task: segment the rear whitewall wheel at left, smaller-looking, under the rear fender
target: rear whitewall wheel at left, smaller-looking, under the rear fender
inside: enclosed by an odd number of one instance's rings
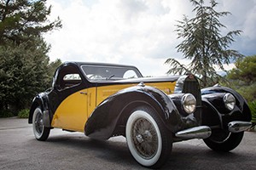
[[[39,107],[34,111],[32,127],[36,139],[41,141],[48,139],[50,128],[44,126],[43,112]]]

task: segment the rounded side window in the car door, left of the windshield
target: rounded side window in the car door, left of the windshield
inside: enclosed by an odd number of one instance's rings
[[[56,87],[58,90],[72,88],[82,82],[78,69],[73,65],[67,65],[61,68],[57,77]]]

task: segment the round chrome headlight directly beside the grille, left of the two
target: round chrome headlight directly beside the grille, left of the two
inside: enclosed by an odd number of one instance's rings
[[[193,113],[196,107],[196,99],[192,94],[184,94],[182,97],[182,105],[184,111],[187,113]]]

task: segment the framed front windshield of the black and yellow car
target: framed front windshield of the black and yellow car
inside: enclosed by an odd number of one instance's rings
[[[121,80],[142,77],[135,67],[112,65],[82,65],[82,69],[90,80]]]

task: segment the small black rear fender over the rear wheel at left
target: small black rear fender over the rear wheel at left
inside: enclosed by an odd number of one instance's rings
[[[35,98],[32,100],[32,106],[29,111],[28,116],[28,123],[32,123],[32,117],[34,114],[34,111],[40,107],[40,109],[43,112],[43,119],[44,119],[44,126],[45,127],[51,127],[50,126],[50,117],[49,117],[49,99],[48,99],[48,93],[40,93],[35,96]]]

